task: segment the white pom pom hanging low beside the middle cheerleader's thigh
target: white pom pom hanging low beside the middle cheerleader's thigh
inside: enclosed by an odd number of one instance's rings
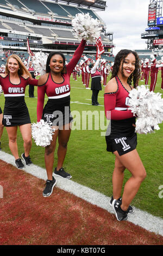
[[[40,120],[40,122],[32,124],[32,138],[37,146],[46,147],[51,144],[54,130],[47,122]]]

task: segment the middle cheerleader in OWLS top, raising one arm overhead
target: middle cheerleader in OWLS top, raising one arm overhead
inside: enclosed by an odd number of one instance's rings
[[[70,111],[70,76],[84,51],[86,41],[82,40],[71,61],[65,66],[65,56],[61,52],[51,52],[47,58],[46,74],[39,79],[37,91],[37,121],[41,118],[55,128],[53,139],[49,146],[45,147],[45,165],[47,171],[46,187],[43,197],[52,194],[56,180],[53,177],[54,151],[58,146],[58,163],[54,174],[69,179],[68,174],[62,167],[67,152],[67,143],[71,134],[71,122],[73,121]],[[48,102],[43,108],[45,93]]]

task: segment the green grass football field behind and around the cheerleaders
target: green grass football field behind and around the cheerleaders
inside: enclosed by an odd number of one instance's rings
[[[99,126],[93,117],[93,121],[89,122],[85,116],[87,111],[94,112],[98,117],[100,114],[104,117],[104,87],[99,92],[98,102],[102,106],[91,105],[91,90],[86,90],[81,82],[81,76],[78,81],[74,81],[71,76],[71,111],[74,117],[73,130],[71,133],[70,141],[68,142],[68,150],[64,167],[72,175],[72,180],[83,184],[105,194],[108,197],[112,195],[112,171],[114,169],[114,155],[106,152],[105,136],[102,133],[106,129],[105,126]],[[91,79],[90,79],[91,83]],[[140,82],[140,85],[144,84]],[[150,78],[148,81],[150,84]],[[159,71],[158,81],[155,87],[155,92],[161,91],[161,73]],[[37,97],[37,88],[35,87],[35,97]],[[1,96],[1,108],[4,106],[4,96]],[[36,105],[37,98],[28,97],[28,86],[26,88],[26,103],[29,109],[29,114],[32,122],[36,122]],[[45,103],[47,102],[47,96]],[[83,104],[80,104],[83,103]],[[85,111],[85,112],[84,112]],[[77,119],[78,118],[78,119]],[[78,122],[76,122],[78,120]],[[89,122],[89,123],[88,123]],[[93,123],[91,129],[90,124]],[[79,125],[80,124],[80,125]],[[98,128],[99,126],[99,128]],[[80,127],[80,129],[79,129]],[[82,129],[83,127],[83,129]],[[154,216],[163,218],[163,191],[159,189],[163,187],[163,123],[159,125],[160,130],[153,134],[137,134],[137,151],[140,154],[142,162],[147,171],[147,177],[141,184],[139,192],[137,193],[132,205],[141,210],[147,211]],[[76,128],[76,129],[74,129]],[[11,153],[8,146],[8,135],[4,128],[2,135],[2,150]],[[18,130],[18,152],[21,156],[23,153],[23,141]],[[34,164],[45,168],[44,162],[45,148],[38,147],[33,141],[30,157]],[[55,166],[57,163],[57,150],[55,151]],[[54,167],[55,167],[54,166]],[[130,173],[125,171],[124,183],[128,180]],[[162,188],[163,190],[163,188]],[[160,193],[160,194],[159,194]],[[160,197],[161,195],[161,197]],[[109,203],[109,202],[108,202]]]

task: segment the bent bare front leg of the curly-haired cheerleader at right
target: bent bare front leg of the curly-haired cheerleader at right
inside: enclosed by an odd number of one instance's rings
[[[146,177],[146,170],[141,162],[141,159],[136,149],[130,151],[129,153],[123,154],[122,156],[120,156],[117,151],[115,151],[114,154],[116,158],[121,162],[121,164],[131,172],[131,177],[126,182],[122,195],[121,209],[123,211],[127,211],[131,201],[134,199],[137,191],[139,190],[142,181]],[[114,179],[115,195],[118,194],[120,191],[119,189],[121,181],[122,180],[117,181],[116,183]]]

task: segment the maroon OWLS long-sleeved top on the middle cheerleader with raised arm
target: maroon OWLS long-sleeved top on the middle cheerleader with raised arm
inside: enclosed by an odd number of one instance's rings
[[[60,84],[57,84],[53,81],[51,73],[48,74],[47,81],[44,85],[39,86],[37,89],[37,121],[39,122],[42,117],[43,104],[45,99],[45,93],[48,96],[48,99],[53,99],[53,104],[70,102],[70,76],[73,72],[74,67],[76,67],[82,53],[84,51],[86,41],[83,39],[79,44],[77,50],[74,52],[74,55],[71,61],[66,65],[66,73],[61,74],[64,81]]]

